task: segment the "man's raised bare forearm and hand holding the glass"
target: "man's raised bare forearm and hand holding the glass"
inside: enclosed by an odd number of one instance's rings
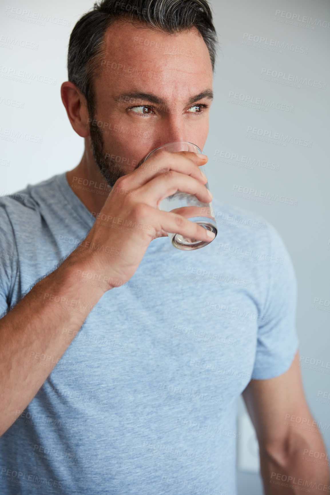
[[[207,160],[203,156],[162,151],[118,179],[82,244],[91,248],[74,249],[0,319],[0,435],[36,395],[92,307],[106,291],[132,277],[152,239],[175,232],[210,241],[200,225],[158,209],[177,190],[211,201],[198,168]],[[103,254],[94,246],[111,249]],[[81,283],[86,279],[77,276],[84,273],[94,273],[102,283]],[[42,355],[49,366],[34,359]]]

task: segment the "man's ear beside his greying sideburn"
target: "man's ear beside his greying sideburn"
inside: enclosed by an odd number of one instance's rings
[[[61,86],[61,98],[73,129],[82,138],[89,136],[90,118],[86,98],[69,81],[66,81]]]

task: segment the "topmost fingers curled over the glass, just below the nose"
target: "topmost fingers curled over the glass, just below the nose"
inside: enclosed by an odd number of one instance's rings
[[[152,178],[164,175],[169,170],[175,170],[206,184],[205,175],[199,170],[199,166],[204,165],[208,158],[193,151],[177,151],[170,153],[163,149],[157,151],[155,156],[148,158],[142,165],[130,172],[125,177],[129,179],[129,187],[137,189]]]

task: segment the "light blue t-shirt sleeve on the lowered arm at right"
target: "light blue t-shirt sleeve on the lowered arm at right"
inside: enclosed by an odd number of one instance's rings
[[[275,228],[268,224],[269,249],[266,298],[259,328],[252,378],[266,380],[287,371],[299,340],[295,327],[297,284],[290,256]],[[266,268],[266,266],[265,266]]]

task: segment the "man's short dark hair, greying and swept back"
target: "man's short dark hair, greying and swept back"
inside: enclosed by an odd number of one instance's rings
[[[207,0],[102,0],[74,26],[68,49],[68,79],[87,100],[91,115],[95,110],[93,74],[103,54],[104,35],[116,19],[142,22],[156,31],[174,34],[193,27],[209,50],[212,69],[216,58],[217,34]]]

